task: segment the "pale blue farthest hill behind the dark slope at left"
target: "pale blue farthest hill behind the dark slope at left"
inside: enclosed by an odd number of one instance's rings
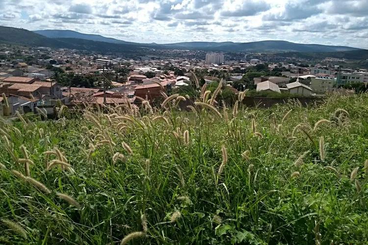
[[[84,34],[72,30],[36,30],[33,31],[37,34],[43,35],[48,38],[78,38],[86,39],[97,42],[113,43],[113,44],[136,44],[132,42],[126,42],[115,38],[108,38],[101,35]]]

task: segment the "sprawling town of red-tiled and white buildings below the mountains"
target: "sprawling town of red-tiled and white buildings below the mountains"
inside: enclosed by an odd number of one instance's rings
[[[163,100],[162,92],[195,96],[200,92],[196,83],[203,86],[220,80],[228,97],[249,90],[249,96],[271,98],[320,98],[333,92],[346,95],[365,91],[368,83],[367,70],[271,63],[247,59],[246,55],[242,60],[226,60],[219,52],[208,52],[203,60],[151,56],[133,60],[70,49],[20,50],[3,45],[0,58],[0,93],[9,103],[4,106],[0,98],[0,115],[4,116],[15,115],[17,110],[37,114],[37,108],[53,108],[57,101],[115,105],[139,104],[143,98],[156,103]]]

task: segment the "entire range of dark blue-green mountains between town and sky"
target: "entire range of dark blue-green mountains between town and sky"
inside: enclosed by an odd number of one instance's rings
[[[42,35],[41,35],[42,34]],[[203,51],[221,52],[262,52],[282,53],[294,52],[309,53],[309,56],[321,57],[350,57],[352,59],[368,59],[368,50],[344,46],[326,46],[316,44],[296,44],[286,41],[260,41],[250,43],[233,42],[184,42],[174,44],[140,44],[126,42],[114,38],[106,38],[101,35],[83,34],[70,30],[39,30],[0,26],[0,43],[17,44],[31,47],[50,47],[89,50],[101,53],[134,53],[135,55],[147,55],[148,49],[191,49]],[[314,55],[316,54],[316,55]]]

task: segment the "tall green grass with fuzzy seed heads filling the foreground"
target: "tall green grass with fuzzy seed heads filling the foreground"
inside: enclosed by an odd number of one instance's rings
[[[367,95],[179,99],[1,122],[0,244],[367,244]]]

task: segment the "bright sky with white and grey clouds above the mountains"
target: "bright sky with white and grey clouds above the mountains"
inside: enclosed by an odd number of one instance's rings
[[[140,43],[346,45],[368,49],[368,0],[0,0],[0,25]]]

